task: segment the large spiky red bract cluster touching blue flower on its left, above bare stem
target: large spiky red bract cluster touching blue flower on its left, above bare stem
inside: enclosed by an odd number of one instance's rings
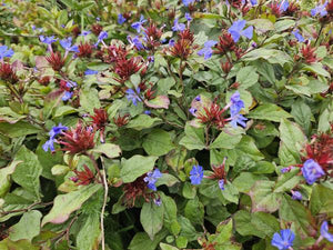
[[[62,151],[69,151],[71,154],[84,153],[94,147],[94,131],[91,127],[82,126],[80,121],[75,128],[62,132],[62,137],[58,140],[64,147]]]

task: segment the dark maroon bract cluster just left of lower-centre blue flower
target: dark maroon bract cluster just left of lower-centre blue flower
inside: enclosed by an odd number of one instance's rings
[[[155,194],[154,192],[150,192],[147,182],[144,182],[144,177],[147,174],[139,177],[137,180],[134,180],[131,183],[125,183],[123,187],[123,202],[128,207],[133,207],[135,203],[135,200],[138,198],[143,198],[145,202],[149,202],[154,199]]]

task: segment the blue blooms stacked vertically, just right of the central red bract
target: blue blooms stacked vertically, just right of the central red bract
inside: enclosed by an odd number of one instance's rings
[[[230,124],[234,128],[238,127],[238,123],[241,124],[242,127],[246,127],[246,121],[248,119],[244,118],[242,114],[240,114],[240,111],[242,108],[244,108],[244,102],[241,100],[241,96],[239,91],[235,91],[231,98],[230,98],[230,117],[231,117],[231,122]]]

